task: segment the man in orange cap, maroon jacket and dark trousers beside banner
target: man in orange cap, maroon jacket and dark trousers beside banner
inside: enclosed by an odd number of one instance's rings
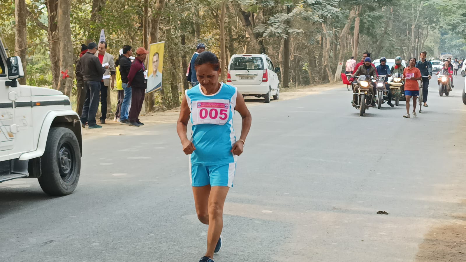
[[[139,114],[143,107],[144,93],[147,88],[147,71],[144,66],[147,54],[149,54],[149,51],[145,48],[137,48],[136,59],[131,64],[130,73],[128,74],[128,86],[131,87],[130,126],[139,127],[144,125],[139,121]]]

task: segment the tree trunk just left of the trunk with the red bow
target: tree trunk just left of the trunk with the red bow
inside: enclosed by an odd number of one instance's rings
[[[52,69],[52,88],[58,88],[58,80],[60,77],[60,38],[58,36],[58,0],[47,0],[47,16],[48,16],[48,43],[50,65]]]

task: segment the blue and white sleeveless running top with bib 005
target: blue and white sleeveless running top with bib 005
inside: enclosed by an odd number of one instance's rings
[[[205,95],[200,85],[186,90],[186,101],[191,110],[191,141],[196,150],[191,162],[200,165],[223,165],[236,162],[232,151],[236,143],[233,129],[236,87],[220,84],[219,91]]]

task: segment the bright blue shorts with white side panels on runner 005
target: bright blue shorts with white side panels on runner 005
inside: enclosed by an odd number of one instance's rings
[[[223,165],[198,165],[189,163],[191,186],[229,186],[233,187],[236,163]]]

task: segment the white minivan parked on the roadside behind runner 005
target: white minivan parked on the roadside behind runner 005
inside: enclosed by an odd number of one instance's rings
[[[227,82],[238,88],[243,96],[264,97],[270,103],[270,97],[280,97],[280,81],[270,57],[262,55],[233,55],[228,64]]]

